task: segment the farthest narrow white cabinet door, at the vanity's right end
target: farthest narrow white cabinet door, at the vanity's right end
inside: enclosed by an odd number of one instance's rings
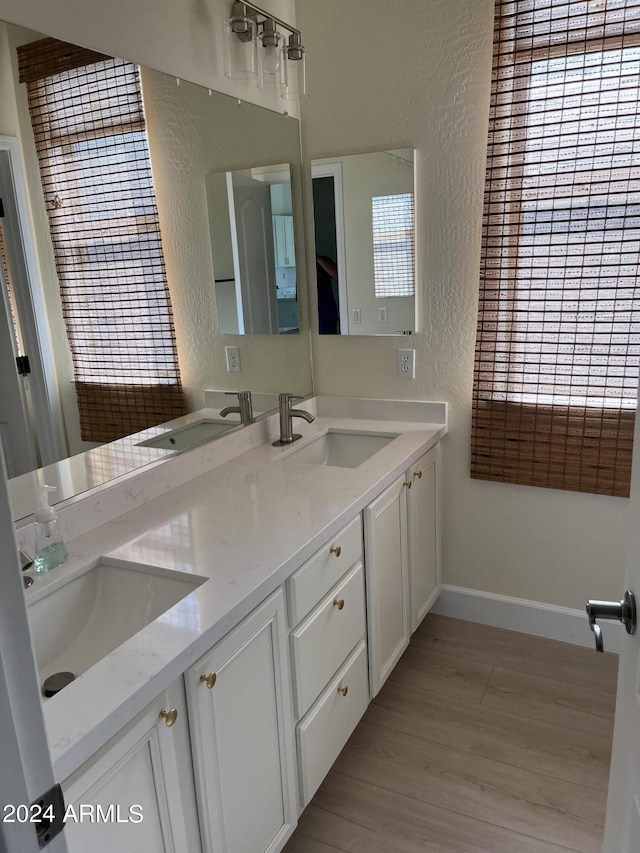
[[[411,483],[408,528],[413,633],[440,593],[440,445],[410,468],[407,480]]]

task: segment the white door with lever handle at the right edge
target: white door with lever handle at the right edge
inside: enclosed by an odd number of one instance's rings
[[[640,417],[636,418],[625,589],[640,600]],[[621,597],[624,590],[612,590]],[[640,628],[624,639],[603,853],[640,851]]]

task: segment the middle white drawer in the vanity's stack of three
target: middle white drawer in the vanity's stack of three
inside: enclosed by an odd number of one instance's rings
[[[364,570],[358,562],[291,632],[298,719],[365,635]]]

